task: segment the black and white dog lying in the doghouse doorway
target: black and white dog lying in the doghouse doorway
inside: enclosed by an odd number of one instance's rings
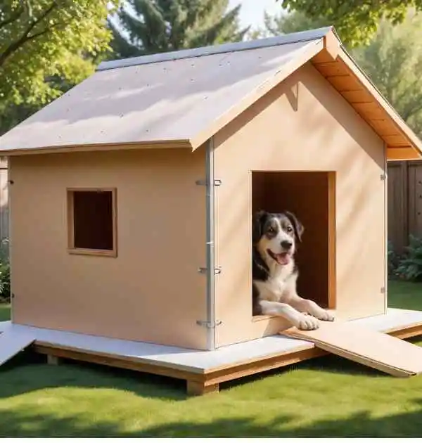
[[[295,214],[259,211],[252,220],[253,315],[276,315],[303,330],[319,327],[320,320],[333,321],[332,314],[296,292],[298,267],[296,242],[304,228]]]

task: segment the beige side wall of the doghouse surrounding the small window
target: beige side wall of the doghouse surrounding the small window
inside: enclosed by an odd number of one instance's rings
[[[13,321],[205,348],[205,151],[11,159]],[[66,188],[117,188],[117,257],[70,255]]]

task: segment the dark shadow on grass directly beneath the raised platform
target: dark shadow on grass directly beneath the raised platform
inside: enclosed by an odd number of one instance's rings
[[[224,391],[231,387],[245,385],[271,375],[280,375],[297,369],[364,375],[366,377],[390,377],[390,375],[353,361],[335,355],[327,355],[221,383],[220,390]],[[51,366],[46,364],[44,355],[35,354],[30,350],[20,352],[11,361],[0,366],[0,375],[2,373],[4,375],[7,373],[8,381],[1,383],[0,379],[0,399],[35,390],[64,386],[110,387],[127,390],[141,397],[156,399],[181,401],[188,398],[185,380],[70,359],[65,359],[58,366]]]

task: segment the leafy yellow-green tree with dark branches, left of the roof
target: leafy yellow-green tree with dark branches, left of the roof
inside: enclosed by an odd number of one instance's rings
[[[108,49],[117,0],[0,0],[0,103],[43,104],[87,77]],[[60,81],[58,81],[60,79]]]

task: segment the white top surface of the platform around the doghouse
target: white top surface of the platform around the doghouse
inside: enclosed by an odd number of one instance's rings
[[[364,328],[390,332],[422,325],[422,312],[388,309],[387,314],[353,320],[351,323],[359,324]],[[306,340],[287,338],[281,335],[271,335],[257,340],[224,346],[215,351],[197,351],[181,347],[117,340],[81,333],[16,325],[11,322],[0,322],[0,330],[7,330],[8,328],[26,330],[28,333],[35,335],[37,343],[43,345],[56,345],[96,354],[112,354],[116,357],[121,356],[141,363],[167,366],[193,373],[219,371],[222,368],[229,368],[250,361],[314,348],[314,345]]]

